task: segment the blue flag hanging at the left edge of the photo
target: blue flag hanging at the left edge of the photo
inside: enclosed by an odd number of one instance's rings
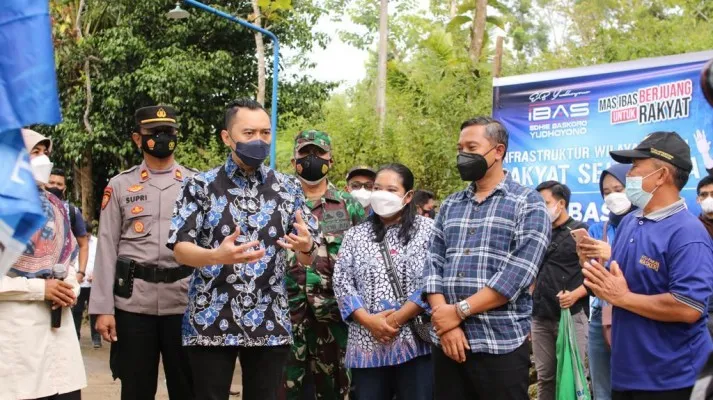
[[[49,1],[0,2],[0,276],[45,216],[20,128],[61,121]]]

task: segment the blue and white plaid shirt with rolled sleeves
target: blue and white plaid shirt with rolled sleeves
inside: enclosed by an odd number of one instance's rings
[[[489,287],[508,299],[471,315],[461,328],[473,353],[506,354],[530,332],[534,282],[550,241],[551,222],[539,193],[506,175],[485,200],[475,184],[441,205],[424,268],[424,295],[455,304]],[[435,343],[438,338],[432,333]]]

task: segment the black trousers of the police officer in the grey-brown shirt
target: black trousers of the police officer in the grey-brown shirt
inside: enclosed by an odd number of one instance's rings
[[[190,364],[181,342],[182,315],[146,315],[116,310],[118,341],[111,345],[111,364],[121,379],[122,400],[153,400],[159,358],[163,361],[171,400],[192,400]]]

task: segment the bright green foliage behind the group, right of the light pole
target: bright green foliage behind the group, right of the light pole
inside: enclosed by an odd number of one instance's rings
[[[376,1],[352,11],[368,35],[346,35],[373,48]],[[504,75],[680,54],[713,47],[713,2],[705,0],[501,0],[488,7],[489,34],[481,62],[468,57],[472,0],[432,0],[429,13],[405,7],[390,26],[388,114],[383,137],[376,132],[376,75],[372,54],[367,77],[332,96],[318,118],[293,120],[288,130],[314,127],[333,137],[336,166],[330,178],[344,184],[357,164],[397,161],[409,166],[417,186],[440,198],[465,186],[455,168],[460,123],[490,115],[495,26],[506,33]],[[356,14],[355,14],[356,13]],[[291,137],[278,146],[279,166],[291,170]]]

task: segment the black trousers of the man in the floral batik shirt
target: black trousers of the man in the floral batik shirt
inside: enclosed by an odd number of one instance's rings
[[[243,400],[276,400],[290,354],[289,346],[204,347],[190,346],[196,400],[227,400],[240,357],[243,371]]]

